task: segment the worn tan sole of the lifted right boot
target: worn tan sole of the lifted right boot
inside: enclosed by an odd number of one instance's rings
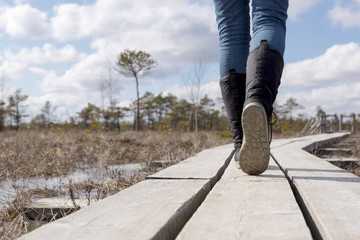
[[[240,149],[238,168],[249,175],[263,173],[270,159],[269,127],[264,107],[252,102],[242,113],[243,144]]]

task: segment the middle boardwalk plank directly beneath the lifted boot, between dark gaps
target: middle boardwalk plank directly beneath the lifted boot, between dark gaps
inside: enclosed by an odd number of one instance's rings
[[[260,176],[231,162],[176,239],[312,239],[284,174],[271,161]]]

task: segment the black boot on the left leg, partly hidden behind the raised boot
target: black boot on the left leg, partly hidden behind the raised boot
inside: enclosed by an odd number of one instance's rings
[[[229,74],[220,80],[220,89],[229,119],[230,132],[234,140],[235,161],[239,161],[239,152],[243,141],[241,114],[245,101],[246,75],[230,69]]]

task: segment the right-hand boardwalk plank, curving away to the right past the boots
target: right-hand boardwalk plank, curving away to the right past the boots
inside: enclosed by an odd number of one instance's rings
[[[339,134],[329,134],[331,141]],[[326,137],[271,150],[286,171],[315,238],[360,239],[360,178],[301,150]],[[312,147],[309,147],[312,145]]]

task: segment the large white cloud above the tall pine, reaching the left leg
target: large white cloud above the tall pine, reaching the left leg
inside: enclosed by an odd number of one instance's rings
[[[214,60],[217,28],[212,3],[189,4],[183,0],[97,1],[93,5],[57,6],[51,23],[59,40],[92,39],[94,49],[116,47],[143,49],[168,57]]]

